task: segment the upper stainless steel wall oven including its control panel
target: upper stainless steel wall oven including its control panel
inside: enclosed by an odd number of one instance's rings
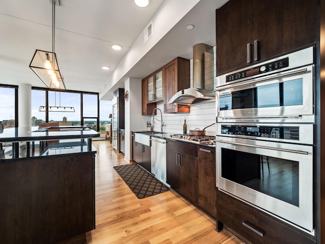
[[[314,122],[313,48],[274,58],[216,79],[217,121]]]

